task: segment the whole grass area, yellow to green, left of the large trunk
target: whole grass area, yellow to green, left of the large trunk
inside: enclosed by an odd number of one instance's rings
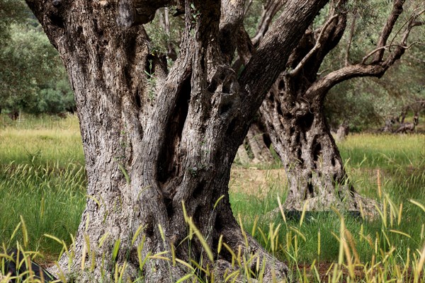
[[[7,121],[2,116],[1,121]],[[21,240],[25,221],[28,248],[57,254],[70,243],[85,205],[84,155],[76,117],[23,117],[0,127],[0,242]]]

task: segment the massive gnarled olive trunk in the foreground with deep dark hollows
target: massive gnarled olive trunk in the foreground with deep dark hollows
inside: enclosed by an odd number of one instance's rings
[[[124,281],[142,274],[145,282],[176,282],[191,272],[185,265],[149,258],[139,269],[139,255],[174,250],[220,281],[232,269],[232,255],[217,253],[222,236],[235,253],[259,257],[265,282],[285,276],[288,268],[245,238],[234,219],[230,168],[261,101],[326,2],[288,1],[237,79],[230,64],[244,1],[186,1],[181,53],[170,71],[140,25],[169,1],[27,1],[72,82],[89,179],[74,254],[60,260],[64,271],[78,273],[77,282],[108,282],[125,265]],[[213,259],[196,237],[188,240],[182,203]],[[246,264],[255,270],[256,262]]]

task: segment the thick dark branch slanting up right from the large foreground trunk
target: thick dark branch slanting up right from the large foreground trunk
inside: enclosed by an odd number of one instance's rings
[[[249,113],[249,116],[243,117],[252,117],[259,109],[271,85],[285,69],[290,53],[319,9],[326,3],[327,0],[286,2],[284,11],[261,40],[256,54],[251,57],[239,78],[242,90],[241,111]],[[295,30],[297,32],[294,32]],[[259,72],[259,69],[264,71]]]

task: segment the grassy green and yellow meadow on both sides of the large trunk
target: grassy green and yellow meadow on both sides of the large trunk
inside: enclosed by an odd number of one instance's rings
[[[351,134],[339,149],[356,190],[382,204],[380,219],[339,212],[286,219],[278,162],[234,165],[235,216],[302,282],[425,282],[425,135]],[[39,262],[56,260],[63,243],[55,238],[72,244],[85,187],[76,117],[1,116],[0,254],[19,243],[40,252]]]

